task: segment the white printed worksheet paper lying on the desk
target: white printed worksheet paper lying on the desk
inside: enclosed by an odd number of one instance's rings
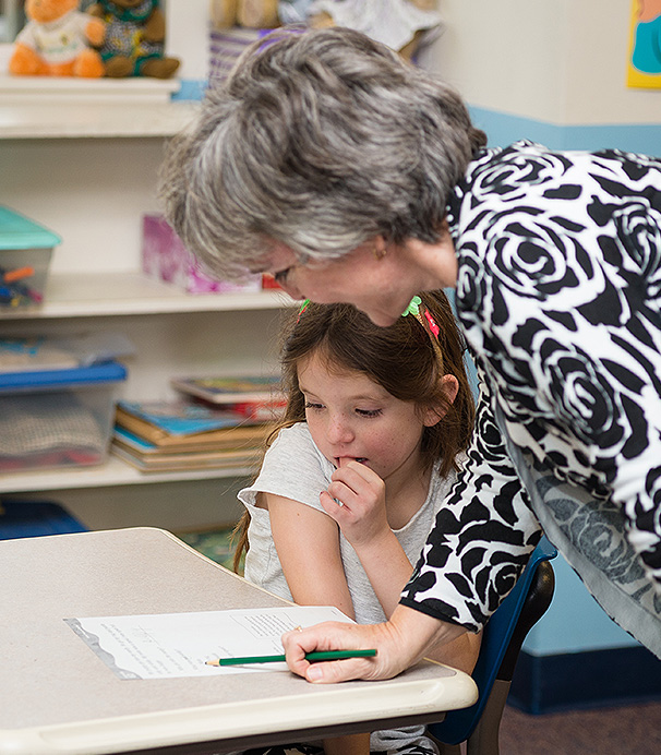
[[[332,606],[64,619],[121,679],[287,671],[287,663],[214,667],[207,660],[281,655],[280,636],[323,621],[353,623]]]

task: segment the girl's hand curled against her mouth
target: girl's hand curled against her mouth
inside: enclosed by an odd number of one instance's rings
[[[385,482],[364,464],[350,460],[333,472],[320,502],[356,550],[392,534],[385,505]]]

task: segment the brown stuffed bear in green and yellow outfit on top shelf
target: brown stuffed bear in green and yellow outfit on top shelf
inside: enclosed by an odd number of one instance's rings
[[[111,79],[169,79],[179,68],[165,56],[166,21],[158,0],[100,0],[88,13],[106,22],[100,48],[105,75]]]

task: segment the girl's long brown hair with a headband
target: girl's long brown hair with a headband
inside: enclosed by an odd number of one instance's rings
[[[474,420],[474,402],[466,374],[464,338],[457,327],[450,303],[443,291],[420,295],[420,316],[398,317],[388,327],[380,327],[351,304],[310,302],[293,315],[284,332],[281,350],[283,385],[287,408],[269,434],[266,446],[285,428],[305,421],[305,398],[298,380],[301,360],[321,355],[329,370],[352,370],[366,375],[390,395],[413,402],[420,411],[438,409],[443,418],[422,433],[421,452],[431,467],[440,460],[438,474],[445,477],[457,468],[456,457],[468,446]],[[438,334],[432,333],[424,315],[429,312]],[[448,402],[443,376],[454,375],[459,390]],[[244,512],[235,536],[238,537],[235,570],[248,551],[250,514]]]

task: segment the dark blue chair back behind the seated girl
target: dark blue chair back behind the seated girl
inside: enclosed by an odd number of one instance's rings
[[[441,742],[450,745],[458,744],[472,734],[484,711],[489,695],[498,676],[503,659],[506,657],[510,643],[513,645],[516,644],[516,648],[513,648],[515,650],[514,654],[508,654],[510,656],[508,660],[512,661],[510,669],[508,670],[509,680],[512,680],[510,674],[514,671],[514,663],[526,635],[544,614],[553,598],[552,578],[546,580],[546,589],[538,589],[539,586],[536,583],[538,567],[540,562],[548,562],[556,555],[557,550],[543,537],[532,552],[514,589],[486,623],[482,634],[480,655],[471,674],[478,685],[480,696],[478,702],[470,708],[452,710],[446,714],[443,721],[428,726],[431,734]],[[546,566],[552,577],[551,565],[546,563]],[[524,615],[521,612],[524,612]],[[513,637],[515,642],[513,642]]]

